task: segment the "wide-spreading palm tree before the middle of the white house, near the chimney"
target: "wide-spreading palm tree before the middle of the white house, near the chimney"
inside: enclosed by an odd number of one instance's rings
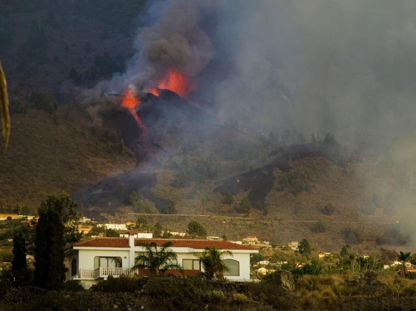
[[[153,275],[161,275],[168,269],[182,270],[181,265],[178,265],[178,256],[170,248],[172,245],[172,242],[166,242],[161,247],[155,242],[143,244],[145,251],[136,257],[133,269],[150,269]]]

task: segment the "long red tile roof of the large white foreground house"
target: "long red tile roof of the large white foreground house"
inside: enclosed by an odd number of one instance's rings
[[[207,247],[215,247],[218,249],[241,249],[241,250],[257,250],[257,247],[244,244],[231,243],[229,241],[212,241],[212,240],[190,240],[190,239],[135,239],[135,246],[150,244],[155,242],[158,246],[162,246],[166,242],[172,242],[172,247],[189,247],[194,249],[205,249]],[[129,247],[128,238],[94,238],[82,241],[74,246],[81,247]]]

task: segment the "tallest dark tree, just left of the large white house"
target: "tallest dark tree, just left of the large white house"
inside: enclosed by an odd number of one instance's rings
[[[41,203],[35,229],[34,284],[45,289],[59,289],[65,281],[65,246],[79,240],[75,226],[78,204],[68,194],[50,195]]]

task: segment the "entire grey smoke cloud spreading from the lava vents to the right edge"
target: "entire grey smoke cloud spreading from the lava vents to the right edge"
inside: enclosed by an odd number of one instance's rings
[[[189,98],[222,120],[372,146],[415,189],[416,1],[167,0],[147,13],[126,72],[99,89],[177,67],[199,81]]]

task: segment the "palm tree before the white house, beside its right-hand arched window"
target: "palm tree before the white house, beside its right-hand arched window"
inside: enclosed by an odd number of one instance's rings
[[[223,262],[226,255],[233,257],[231,251],[224,250],[220,252],[215,247],[207,247],[202,254],[197,255],[208,279],[224,279],[224,272],[229,270]]]

